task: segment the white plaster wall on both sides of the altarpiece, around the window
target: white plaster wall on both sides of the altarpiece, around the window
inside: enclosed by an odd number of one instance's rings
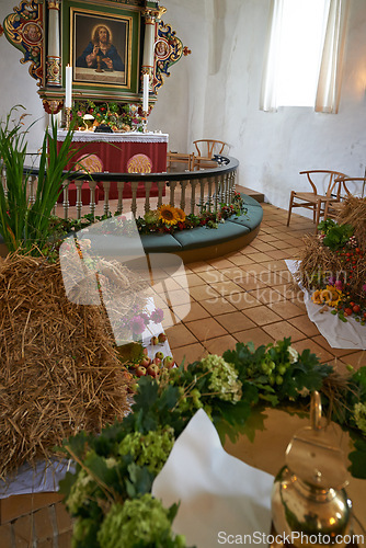
[[[307,189],[298,172],[334,169],[364,174],[366,165],[366,2],[351,0],[339,114],[307,107],[259,110],[270,0],[162,0],[192,55],[171,67],[159,92],[149,128],[170,134],[171,150],[193,151],[194,139],[211,137],[231,145],[240,161],[239,184],[264,192],[287,208],[291,189]],[[13,0],[1,0],[0,21]],[[311,32],[309,30],[309,32]],[[36,83],[21,54],[0,38],[3,116],[22,103],[33,118],[45,118]],[[44,127],[44,124],[43,124]],[[32,130],[37,148],[42,123]]]

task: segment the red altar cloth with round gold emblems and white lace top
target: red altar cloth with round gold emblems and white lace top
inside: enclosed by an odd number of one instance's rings
[[[66,132],[57,134],[58,149],[65,139]],[[167,171],[168,135],[153,133],[98,134],[93,132],[75,132],[72,148],[78,152],[67,169],[77,170],[75,162],[80,160],[81,167],[90,172],[111,173],[162,173]],[[98,183],[99,197],[103,199],[103,183]],[[165,189],[163,189],[165,195]],[[150,196],[158,196],[158,185],[152,183]],[[110,199],[118,197],[117,183],[111,182]],[[130,183],[126,182],[124,198],[131,197]],[[139,183],[137,197],[145,197],[144,182]],[[83,203],[88,198],[83,196]],[[62,196],[59,198],[62,202]]]

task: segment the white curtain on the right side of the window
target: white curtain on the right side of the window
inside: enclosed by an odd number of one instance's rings
[[[330,0],[316,98],[317,112],[338,112],[348,3],[348,0]]]

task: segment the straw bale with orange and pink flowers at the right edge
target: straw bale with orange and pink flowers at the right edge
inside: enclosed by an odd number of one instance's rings
[[[319,263],[311,276],[312,301],[333,308],[342,321],[354,317],[366,323],[366,264],[365,252],[354,236],[351,225],[325,220],[319,225],[318,242],[327,250],[328,269]],[[319,253],[319,252],[318,252]]]

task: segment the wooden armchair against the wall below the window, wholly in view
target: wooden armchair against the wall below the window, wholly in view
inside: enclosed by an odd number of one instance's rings
[[[345,178],[346,175],[340,171],[330,170],[300,171],[300,175],[307,175],[312,192],[291,191],[288,205],[287,226],[289,225],[293,208],[305,207],[306,209],[312,210],[312,220],[316,224],[317,231],[319,219],[324,213],[325,204],[328,202],[340,202],[342,185],[340,178]],[[327,189],[324,194],[318,194],[316,183],[324,185],[323,187]]]

